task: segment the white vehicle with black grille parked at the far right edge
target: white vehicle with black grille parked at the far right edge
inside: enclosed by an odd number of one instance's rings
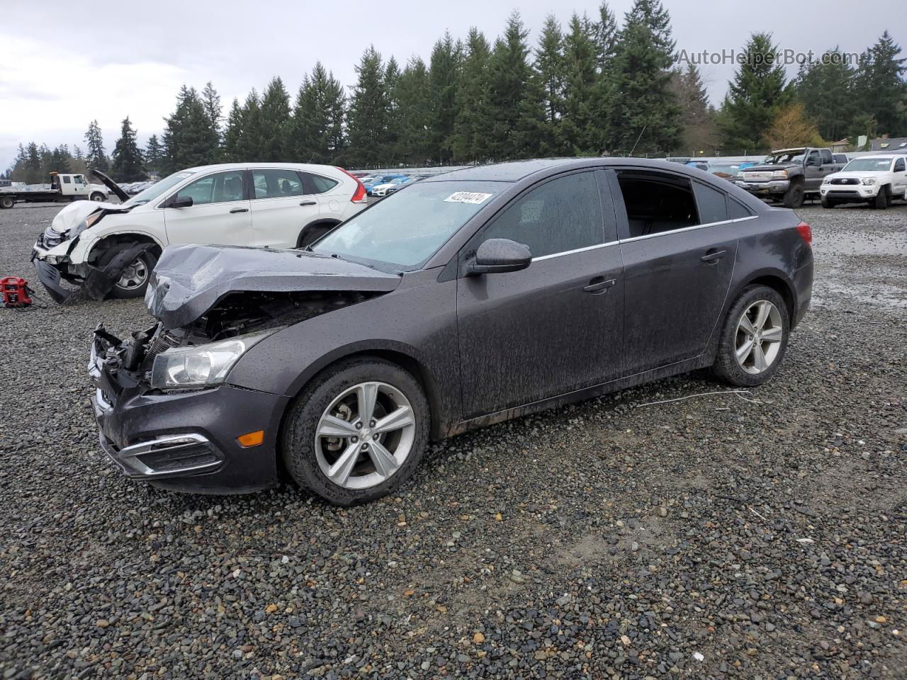
[[[869,203],[885,209],[892,199],[907,200],[907,156],[879,154],[851,160],[827,175],[819,189],[823,208],[842,203]]]

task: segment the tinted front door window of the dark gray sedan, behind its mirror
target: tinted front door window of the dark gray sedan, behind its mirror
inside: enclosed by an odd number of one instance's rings
[[[578,172],[545,182],[505,209],[484,229],[482,240],[510,238],[529,246],[532,257],[604,242],[596,173]]]

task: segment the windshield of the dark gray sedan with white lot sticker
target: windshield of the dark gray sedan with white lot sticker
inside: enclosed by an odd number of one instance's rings
[[[383,262],[401,271],[417,269],[503,186],[499,182],[414,183],[334,229],[312,250]]]

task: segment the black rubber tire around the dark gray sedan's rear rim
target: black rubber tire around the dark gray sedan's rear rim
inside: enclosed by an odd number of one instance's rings
[[[736,359],[737,332],[741,317],[746,310],[761,300],[766,300],[774,305],[780,316],[781,341],[777,354],[766,370],[758,374],[747,373]],[[721,335],[718,336],[718,349],[712,373],[728,384],[737,387],[755,387],[770,380],[778,371],[784,361],[787,350],[787,337],[790,333],[790,316],[787,305],[782,296],[774,288],[767,286],[747,286],[737,296],[734,304],[727,311],[725,321],[721,326]]]

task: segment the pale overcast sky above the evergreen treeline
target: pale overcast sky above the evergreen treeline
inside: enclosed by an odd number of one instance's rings
[[[862,52],[888,29],[907,44],[902,0],[877,0],[866,11],[843,0],[814,3],[736,3],[664,0],[678,52],[739,50],[749,34],[771,31],[782,49],[798,52],[840,45]],[[610,0],[622,21],[631,0]],[[160,133],[180,84],[212,81],[225,109],[251,87],[260,92],[279,75],[295,96],[303,73],[321,60],[347,88],[369,45],[401,64],[428,61],[434,41],[449,30],[465,37],[471,25],[489,40],[518,8],[530,43],[545,15],[566,24],[573,10],[597,17],[599,0],[455,0],[455,2],[249,2],[158,0],[148,4],[66,0],[4,0],[0,22],[0,169],[20,142],[84,149],[97,119],[108,153],[129,115],[143,144]],[[871,10],[869,7],[871,6]],[[899,18],[898,18],[899,17]],[[733,77],[733,63],[701,67],[712,102]],[[790,67],[790,73],[796,71]]]

